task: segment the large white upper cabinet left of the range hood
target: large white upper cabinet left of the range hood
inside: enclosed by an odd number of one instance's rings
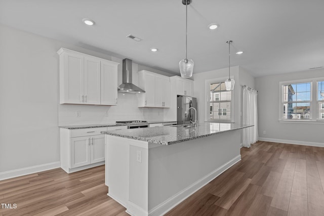
[[[64,48],[57,53],[60,56],[60,104],[117,104],[119,63]]]

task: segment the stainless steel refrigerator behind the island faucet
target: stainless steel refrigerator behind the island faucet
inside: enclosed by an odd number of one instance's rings
[[[194,121],[195,112],[189,107],[194,107],[197,110],[197,99],[187,96],[177,96],[177,124],[190,124],[190,120]]]

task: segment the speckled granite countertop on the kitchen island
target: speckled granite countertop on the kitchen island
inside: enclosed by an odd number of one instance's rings
[[[179,125],[176,125],[179,126]],[[161,145],[172,145],[189,140],[212,136],[224,132],[234,131],[237,129],[250,127],[254,125],[242,125],[233,123],[199,123],[196,127],[146,127],[136,129],[122,129],[118,131],[105,131],[102,134],[124,137],[133,140],[141,140]]]

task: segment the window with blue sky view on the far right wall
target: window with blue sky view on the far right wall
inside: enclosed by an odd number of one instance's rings
[[[323,80],[322,77],[280,82],[279,120],[323,120]]]

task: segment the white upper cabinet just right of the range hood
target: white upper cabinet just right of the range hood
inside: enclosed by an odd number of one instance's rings
[[[170,78],[150,71],[141,70],[139,87],[145,91],[138,94],[138,107],[170,107]]]

